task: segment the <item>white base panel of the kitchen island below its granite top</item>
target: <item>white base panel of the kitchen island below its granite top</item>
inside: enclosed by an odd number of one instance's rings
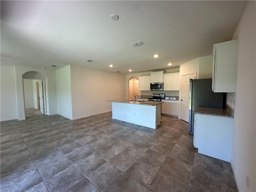
[[[149,128],[157,128],[156,106],[112,102],[112,118]],[[158,110],[161,118],[161,110]],[[160,122],[159,122],[160,123]]]

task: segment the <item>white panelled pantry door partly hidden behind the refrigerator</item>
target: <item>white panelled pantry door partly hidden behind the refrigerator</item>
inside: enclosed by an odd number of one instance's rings
[[[181,112],[180,112],[180,119],[188,122],[189,117],[189,80],[196,78],[196,72],[188,75],[182,75],[181,77]]]

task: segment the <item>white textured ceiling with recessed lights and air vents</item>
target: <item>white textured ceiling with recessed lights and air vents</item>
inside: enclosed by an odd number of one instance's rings
[[[0,3],[1,64],[54,70],[76,65],[128,74],[177,68],[212,54],[213,44],[231,40],[247,1]],[[144,45],[130,45],[139,40]]]

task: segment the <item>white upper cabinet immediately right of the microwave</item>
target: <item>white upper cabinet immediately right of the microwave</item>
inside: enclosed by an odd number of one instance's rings
[[[179,90],[180,73],[166,73],[164,74],[164,91]]]

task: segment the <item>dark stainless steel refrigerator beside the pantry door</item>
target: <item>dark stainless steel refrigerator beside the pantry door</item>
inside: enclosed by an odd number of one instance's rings
[[[197,107],[225,108],[226,93],[212,92],[212,79],[190,79],[188,134],[194,134],[194,110]]]

